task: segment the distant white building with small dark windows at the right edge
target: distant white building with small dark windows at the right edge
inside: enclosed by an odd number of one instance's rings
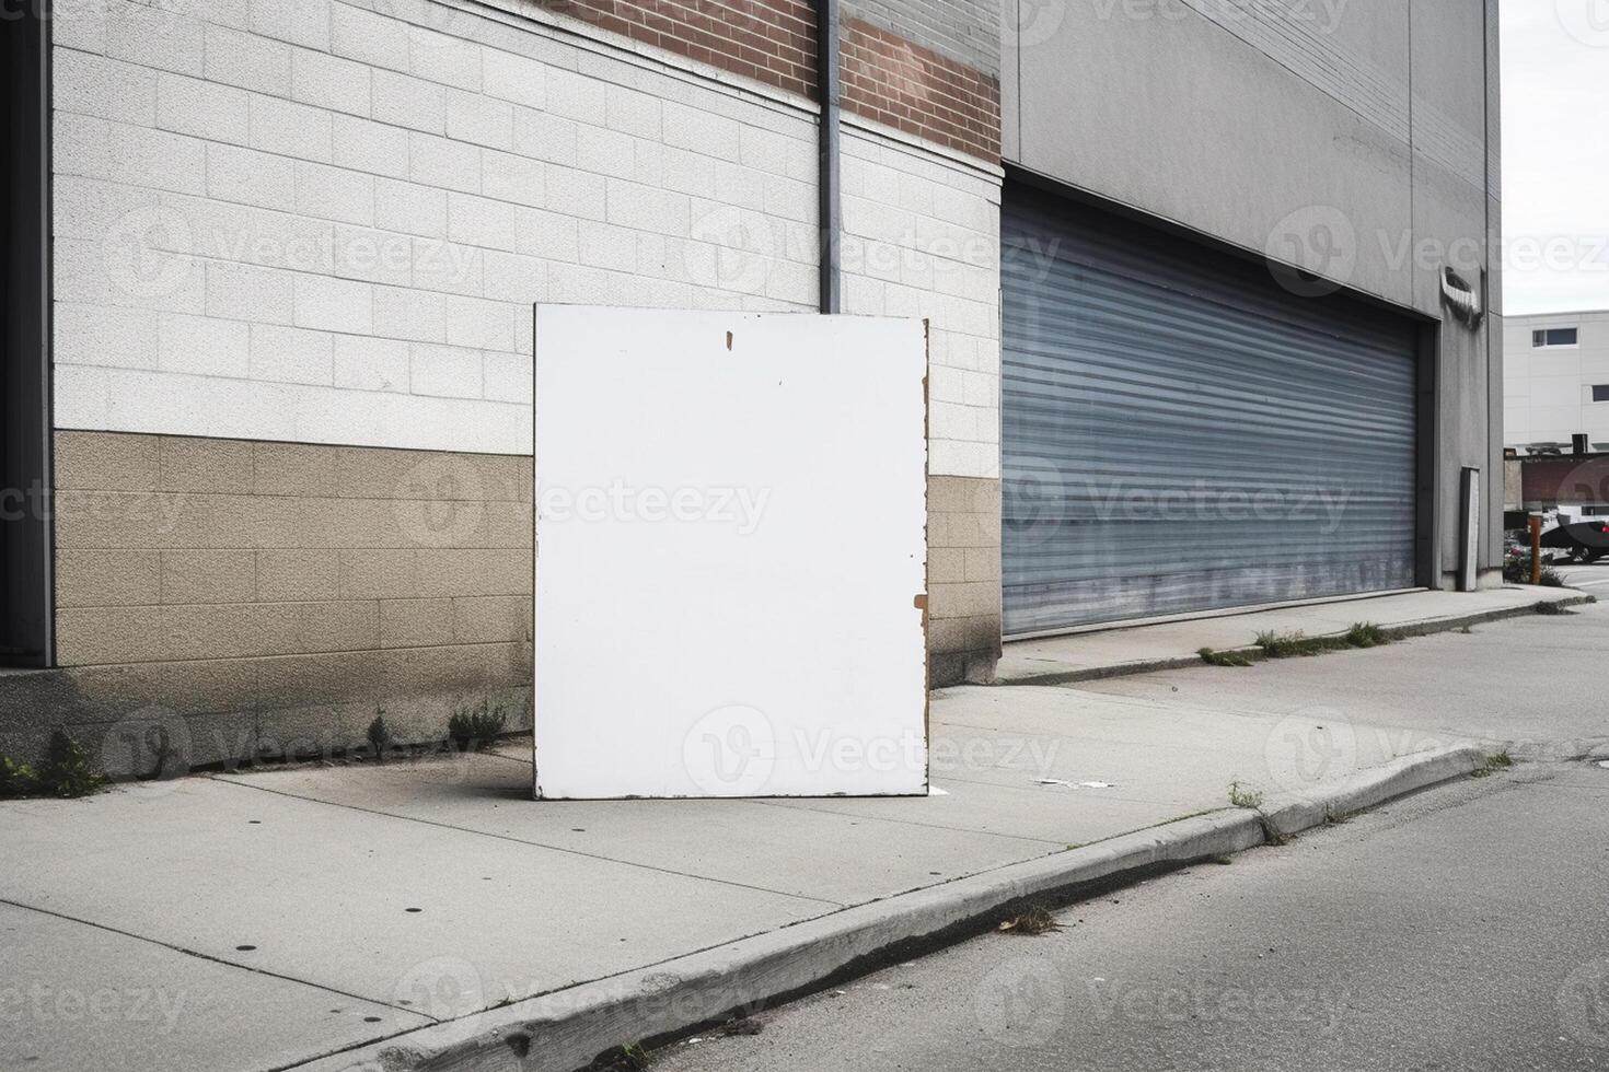
[[[1504,445],[1567,453],[1578,434],[1609,450],[1609,310],[1506,317]]]

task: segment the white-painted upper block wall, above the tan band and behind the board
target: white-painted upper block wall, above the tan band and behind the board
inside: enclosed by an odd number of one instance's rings
[[[529,453],[533,302],[816,307],[804,101],[504,2],[56,19],[56,426]],[[846,312],[932,321],[932,471],[998,477],[998,169],[843,182]]]

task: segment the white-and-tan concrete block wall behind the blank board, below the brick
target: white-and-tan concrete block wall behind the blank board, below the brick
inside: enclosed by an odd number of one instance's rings
[[[48,717],[356,741],[380,706],[523,709],[531,304],[816,307],[814,104],[499,6],[108,0],[56,24]],[[845,154],[850,312],[930,323],[936,546],[998,500],[999,169],[864,119]],[[397,529],[476,481],[484,532]],[[117,521],[145,500],[166,529]],[[935,563],[933,641],[965,636],[936,680],[993,667],[972,550]]]

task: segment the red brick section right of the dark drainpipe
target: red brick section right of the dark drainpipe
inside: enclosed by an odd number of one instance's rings
[[[999,162],[998,79],[861,19],[842,50],[845,111]]]

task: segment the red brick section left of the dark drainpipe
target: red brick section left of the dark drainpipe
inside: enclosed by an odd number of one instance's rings
[[[816,11],[800,0],[541,0],[542,6],[766,85],[814,96]]]

